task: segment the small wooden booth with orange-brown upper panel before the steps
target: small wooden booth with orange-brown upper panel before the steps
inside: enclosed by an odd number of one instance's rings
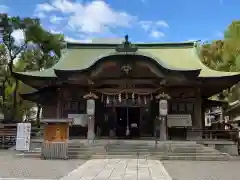
[[[44,119],[43,159],[68,159],[69,125],[72,119]]]

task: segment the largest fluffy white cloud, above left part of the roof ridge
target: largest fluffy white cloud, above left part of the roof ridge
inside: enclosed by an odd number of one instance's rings
[[[41,11],[39,11],[41,10]],[[37,12],[58,11],[68,15],[68,26],[83,33],[102,33],[112,28],[129,27],[134,17],[113,10],[106,2],[95,0],[87,4],[67,0],[54,0],[52,4],[37,6]]]

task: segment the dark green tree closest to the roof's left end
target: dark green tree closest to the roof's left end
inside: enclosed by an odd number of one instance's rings
[[[34,26],[34,31],[29,33],[32,42],[31,48],[24,51],[18,66],[23,71],[42,71],[53,66],[61,56],[61,49],[64,47],[64,37],[59,34],[51,34],[40,26]],[[37,104],[37,124],[40,125],[41,105]]]

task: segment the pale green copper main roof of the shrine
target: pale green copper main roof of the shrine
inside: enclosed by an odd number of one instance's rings
[[[159,65],[170,70],[198,70],[199,77],[222,77],[239,73],[220,72],[206,67],[198,57],[193,42],[188,43],[159,43],[159,44],[135,44],[138,47],[136,53],[148,56],[157,61]],[[115,54],[117,44],[69,44],[62,58],[52,68],[39,72],[24,72],[24,74],[37,77],[56,77],[56,70],[83,70],[93,65],[98,60]]]

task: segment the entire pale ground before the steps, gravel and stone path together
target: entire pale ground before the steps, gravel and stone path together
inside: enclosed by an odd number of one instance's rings
[[[0,180],[239,180],[237,161],[40,160],[0,151]]]

